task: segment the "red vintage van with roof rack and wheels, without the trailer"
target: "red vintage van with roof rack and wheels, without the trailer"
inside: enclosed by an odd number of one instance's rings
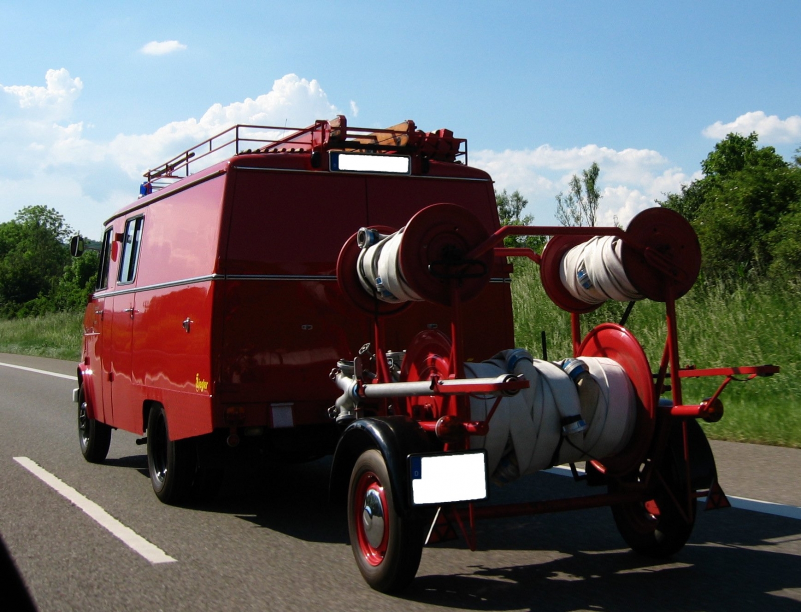
[[[233,127],[149,171],[143,195],[105,223],[75,394],[81,450],[103,461],[112,429],[147,435],[164,502],[213,494],[225,450],[240,442],[292,460],[336,448],[342,425],[329,408],[340,391],[328,374],[372,337],[373,317],[336,278],[353,232],[401,227],[441,202],[498,227],[492,180],[466,165],[466,141],[450,131],[411,121],[376,131],[340,116],[289,132]],[[235,155],[190,172],[225,147]],[[341,155],[354,151],[396,167],[350,168]],[[465,309],[469,359],[513,345],[497,261]],[[448,330],[450,316],[413,304],[392,318],[386,345]]]

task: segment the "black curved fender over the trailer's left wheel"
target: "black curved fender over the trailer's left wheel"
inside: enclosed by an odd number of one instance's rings
[[[429,434],[409,417],[366,417],[353,421],[342,433],[334,451],[328,496],[332,504],[347,502],[353,465],[361,453],[377,449],[387,463],[392,498],[400,516],[412,513],[406,458],[434,448]]]

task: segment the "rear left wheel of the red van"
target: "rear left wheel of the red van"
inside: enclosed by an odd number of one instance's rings
[[[170,440],[163,407],[151,408],[147,417],[147,469],[156,497],[165,504],[179,504],[190,493],[197,463],[193,442]]]

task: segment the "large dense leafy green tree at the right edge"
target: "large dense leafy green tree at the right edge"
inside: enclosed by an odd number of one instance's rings
[[[730,134],[701,163],[702,179],[658,202],[698,233],[707,278],[794,276],[801,271],[801,168],[755,133]]]

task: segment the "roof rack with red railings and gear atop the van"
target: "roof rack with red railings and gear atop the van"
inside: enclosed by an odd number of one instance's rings
[[[286,135],[288,131],[290,134]],[[223,155],[221,151],[224,149],[233,152]],[[429,159],[467,163],[466,139],[454,138],[450,130],[418,130],[411,119],[379,130],[349,127],[344,115],[337,115],[330,121],[318,119],[308,127],[238,124],[145,172],[143,176],[146,181],[142,185],[141,195],[189,176],[190,166],[202,170],[211,163],[240,153],[331,150],[409,153],[424,155]],[[207,158],[207,163],[198,167],[199,161],[204,158]]]

